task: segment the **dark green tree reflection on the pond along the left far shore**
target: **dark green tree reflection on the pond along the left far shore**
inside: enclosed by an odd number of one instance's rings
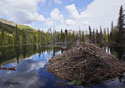
[[[50,50],[53,50],[53,56],[55,56],[55,53],[57,51],[63,51],[60,48],[52,48],[52,47],[36,47],[36,46],[21,46],[21,47],[0,47],[0,65],[4,63],[9,63],[17,61],[19,63],[20,58],[27,58],[33,54],[39,53],[39,56],[41,55],[42,52],[47,51],[49,52]]]

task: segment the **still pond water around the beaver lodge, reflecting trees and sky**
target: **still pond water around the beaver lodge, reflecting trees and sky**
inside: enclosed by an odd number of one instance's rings
[[[124,50],[120,53],[113,50],[114,48],[104,49],[117,57],[124,57]],[[0,48],[0,65],[16,69],[0,70],[0,88],[125,88],[125,79],[116,78],[103,84],[79,86],[70,85],[69,82],[55,77],[47,71],[46,66],[52,56],[63,52],[63,49],[55,47]]]

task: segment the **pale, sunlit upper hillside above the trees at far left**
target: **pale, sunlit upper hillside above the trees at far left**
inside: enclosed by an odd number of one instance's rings
[[[0,29],[2,28],[2,26],[4,27],[5,31],[8,33],[13,33],[14,30],[16,29],[16,25],[19,28],[19,30],[26,30],[28,32],[32,32],[35,31],[35,29],[33,29],[30,26],[27,25],[21,25],[21,24],[17,24],[16,22],[12,22],[12,21],[8,21],[5,19],[0,19]]]

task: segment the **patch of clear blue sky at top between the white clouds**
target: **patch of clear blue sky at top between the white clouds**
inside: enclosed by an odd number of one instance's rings
[[[82,8],[86,8],[88,4],[90,4],[93,0],[62,0],[61,4],[57,4],[54,0],[46,0],[44,4],[39,4],[39,13],[41,13],[44,17],[50,17],[50,12],[54,8],[58,8],[64,16],[67,16],[67,11],[65,6],[75,3],[78,10]],[[51,3],[51,4],[50,4]]]

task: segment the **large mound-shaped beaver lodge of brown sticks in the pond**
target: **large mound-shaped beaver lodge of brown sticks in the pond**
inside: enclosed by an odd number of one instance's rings
[[[124,62],[94,44],[82,43],[49,60],[48,71],[65,80],[95,84],[122,76]]]

